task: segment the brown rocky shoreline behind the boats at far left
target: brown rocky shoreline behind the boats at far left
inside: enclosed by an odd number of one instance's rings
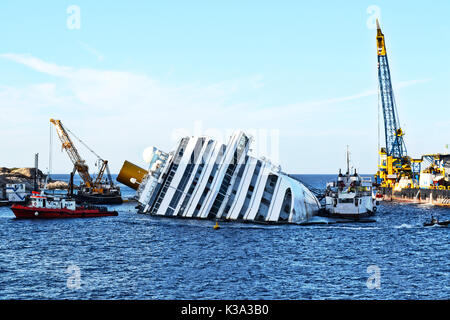
[[[35,168],[6,168],[0,167],[0,189],[5,188],[6,184],[24,183],[28,191],[34,187]],[[38,186],[43,187],[47,175],[38,169]],[[47,189],[68,189],[69,184],[65,181],[52,181],[47,184]]]

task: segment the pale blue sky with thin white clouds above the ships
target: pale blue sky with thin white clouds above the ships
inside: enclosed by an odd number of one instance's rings
[[[445,152],[450,1],[2,1],[0,166],[39,152],[45,169],[57,118],[113,172],[183,134],[244,129],[273,135],[261,154],[287,172],[334,173],[350,145],[373,173],[377,12],[408,152]],[[53,149],[53,172],[70,171]]]

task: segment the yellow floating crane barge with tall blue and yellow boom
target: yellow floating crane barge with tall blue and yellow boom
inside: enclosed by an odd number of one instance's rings
[[[384,34],[377,20],[378,81],[386,147],[379,150],[375,179],[384,200],[450,206],[450,154],[408,156],[400,128]]]

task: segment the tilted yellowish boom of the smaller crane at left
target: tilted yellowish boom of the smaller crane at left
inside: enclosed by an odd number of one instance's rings
[[[89,167],[80,157],[80,154],[78,153],[78,150],[75,148],[75,145],[70,139],[67,130],[64,128],[60,120],[50,119],[50,122],[55,125],[56,132],[58,133],[58,137],[62,143],[62,148],[66,150],[70,160],[74,165],[74,168],[78,171],[78,174],[80,175],[81,179],[83,179],[86,187],[91,188],[93,183],[92,178],[89,175]]]

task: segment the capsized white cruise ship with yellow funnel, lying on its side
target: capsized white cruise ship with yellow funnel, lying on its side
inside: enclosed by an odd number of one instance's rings
[[[153,148],[149,169],[125,161],[117,180],[136,190],[140,213],[258,223],[301,223],[320,203],[280,166],[250,154],[252,138],[235,132],[225,145],[184,137],[172,152]]]

